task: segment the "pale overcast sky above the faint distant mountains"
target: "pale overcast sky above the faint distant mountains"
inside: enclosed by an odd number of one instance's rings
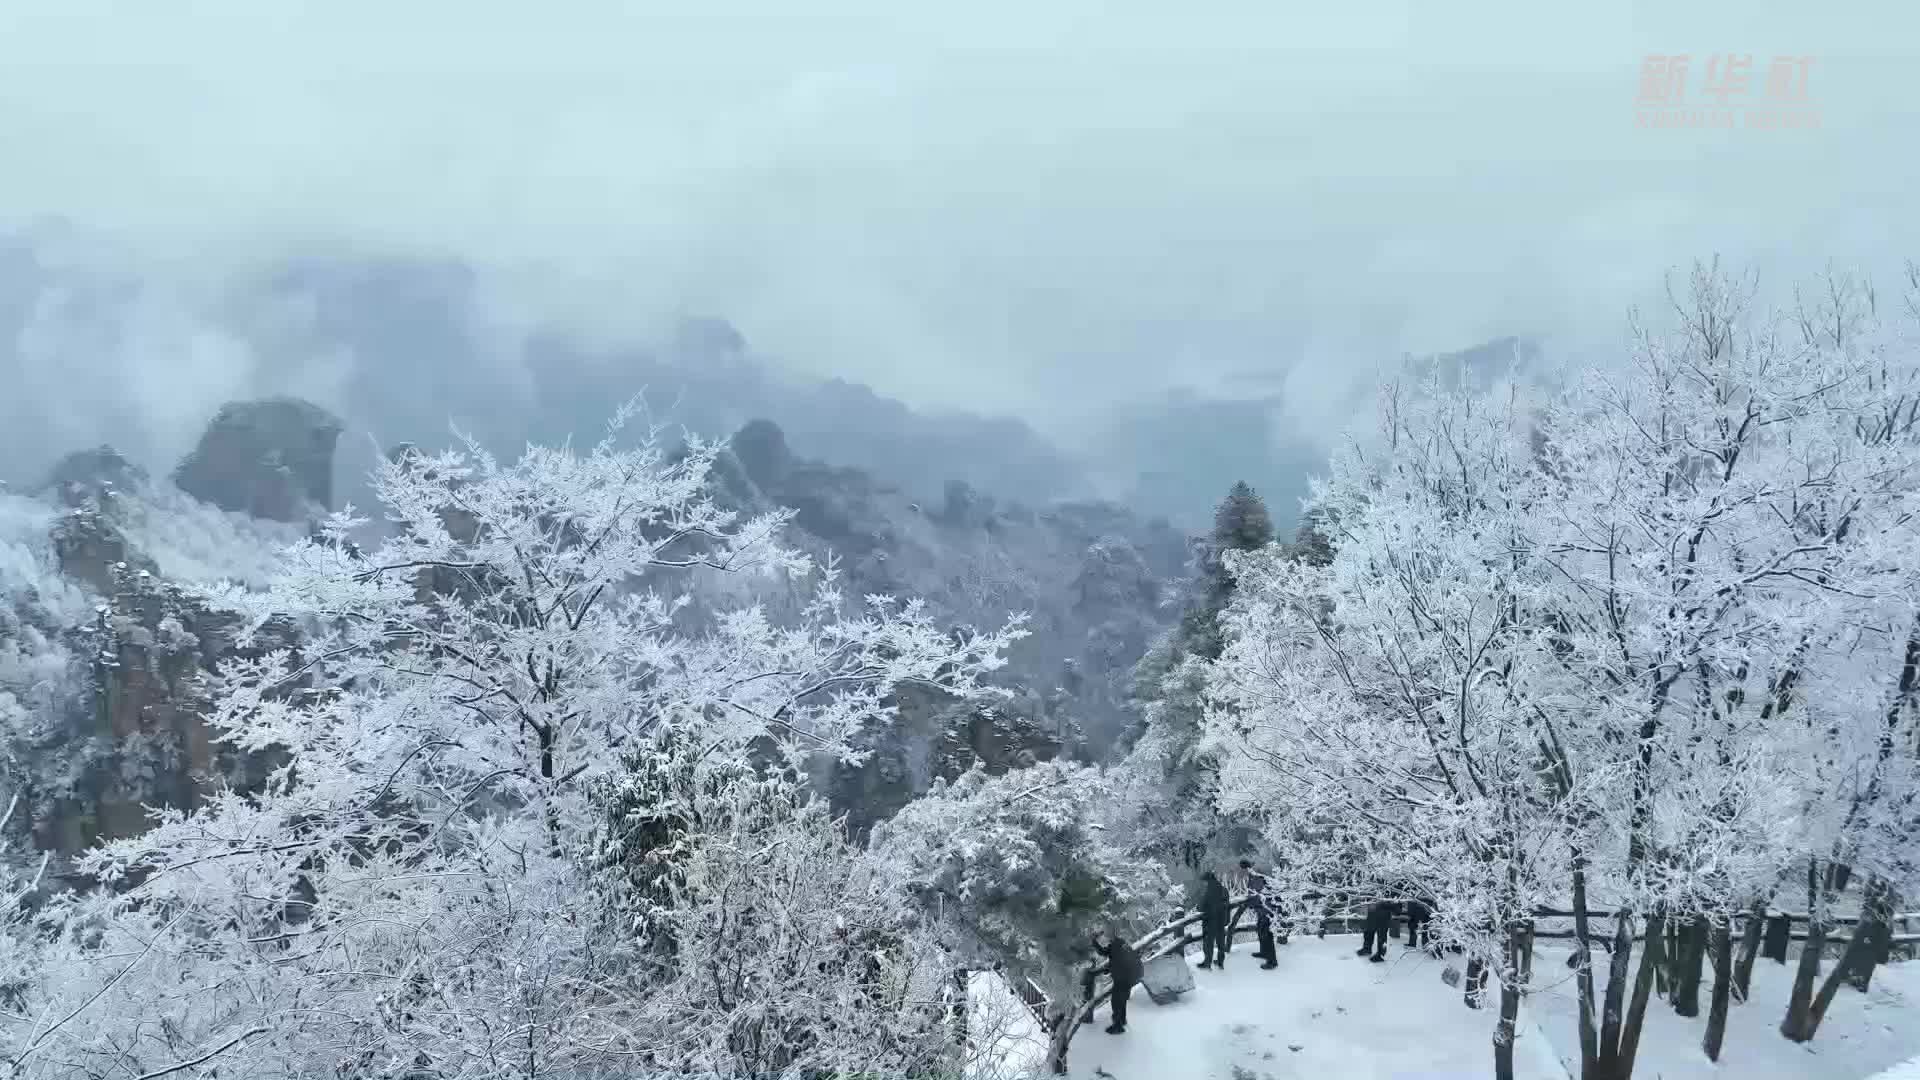
[[[1912,0],[803,8],[4,0],[0,221],[200,279],[451,254],[515,311],[720,313],[1041,421],[1242,369],[1311,413],[1404,350],[1605,342],[1697,254],[1920,256]],[[1755,92],[1812,56],[1822,127],[1636,129],[1653,52],[1695,85],[1749,54]]]

